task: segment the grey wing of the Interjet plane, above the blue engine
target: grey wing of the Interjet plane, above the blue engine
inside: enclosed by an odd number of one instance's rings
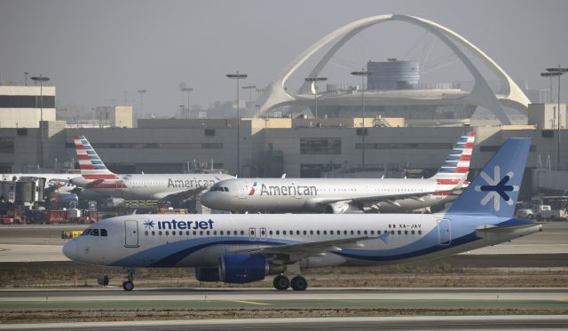
[[[343,248],[362,248],[365,247],[365,245],[360,241],[372,239],[376,239],[376,237],[365,236],[347,239],[304,242],[299,244],[281,246],[269,246],[265,248],[241,250],[240,253],[268,256],[278,259],[284,264],[290,264],[307,256],[321,256],[325,255],[326,253],[340,252]]]

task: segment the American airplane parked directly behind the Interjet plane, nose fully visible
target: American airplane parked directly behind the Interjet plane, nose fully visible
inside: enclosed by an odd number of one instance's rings
[[[232,212],[404,212],[454,201],[467,186],[474,131],[466,131],[430,178],[233,178],[201,195],[210,209]]]

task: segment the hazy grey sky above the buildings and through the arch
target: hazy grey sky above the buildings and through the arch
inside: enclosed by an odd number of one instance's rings
[[[453,29],[531,88],[548,88],[540,77],[544,67],[568,67],[565,0],[0,0],[0,80],[23,84],[24,72],[43,73],[57,86],[59,104],[87,110],[125,99],[137,106],[137,91],[146,89],[144,113],[173,114],[182,103],[182,82],[194,89],[191,104],[232,100],[235,85],[225,74],[240,70],[248,74],[245,84],[264,87],[327,33],[388,13]],[[368,59],[395,57],[427,59],[425,81],[468,80],[433,41],[422,29],[384,24],[353,38],[324,72],[330,82],[353,83],[349,72]],[[563,82],[565,100],[568,79]]]

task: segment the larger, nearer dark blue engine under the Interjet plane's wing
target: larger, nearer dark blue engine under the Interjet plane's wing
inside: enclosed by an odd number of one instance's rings
[[[269,272],[264,256],[226,255],[219,257],[219,278],[225,283],[251,283],[264,280]]]

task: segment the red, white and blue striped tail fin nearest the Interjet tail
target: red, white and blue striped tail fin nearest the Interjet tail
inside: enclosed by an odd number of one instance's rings
[[[473,130],[467,130],[461,134],[452,152],[446,156],[438,173],[434,175],[439,185],[457,185],[462,179],[468,177],[469,162],[471,162],[475,140],[476,132]]]

